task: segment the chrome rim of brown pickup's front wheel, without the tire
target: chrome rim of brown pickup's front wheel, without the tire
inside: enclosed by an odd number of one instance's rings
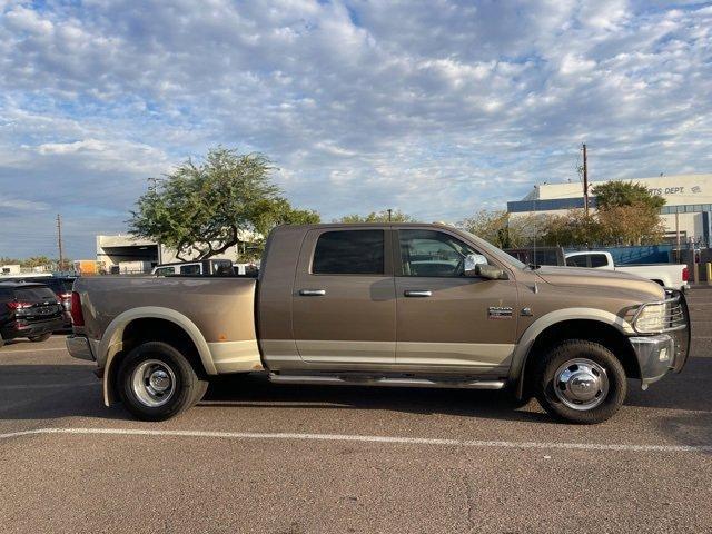
[[[591,359],[570,359],[554,373],[554,393],[572,409],[593,409],[609,394],[609,375]]]

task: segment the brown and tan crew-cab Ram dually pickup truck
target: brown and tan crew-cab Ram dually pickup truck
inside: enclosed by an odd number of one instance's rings
[[[281,226],[259,277],[86,277],[67,347],[103,400],[159,421],[216,375],[277,384],[505,389],[600,423],[688,359],[680,291],[623,273],[528,267],[443,225]]]

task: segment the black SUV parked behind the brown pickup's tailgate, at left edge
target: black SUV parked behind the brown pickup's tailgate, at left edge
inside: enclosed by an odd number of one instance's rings
[[[28,337],[43,342],[65,325],[65,309],[43,284],[0,283],[0,346],[8,339]]]

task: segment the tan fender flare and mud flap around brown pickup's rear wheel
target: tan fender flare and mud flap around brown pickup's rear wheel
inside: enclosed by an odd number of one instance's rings
[[[192,339],[192,343],[198,348],[200,362],[202,363],[206,373],[208,375],[217,374],[208,343],[205,340],[200,329],[192,320],[170,308],[162,308],[158,306],[131,308],[118,315],[111,323],[109,323],[109,326],[99,343],[97,359],[101,356],[106,358],[103,365],[103,404],[106,406],[110,406],[116,402],[115,387],[113,384],[110,384],[112,365],[115,363],[115,356],[123,348],[123,330],[128,324],[135,319],[165,319],[180,326],[186,330],[188,336],[190,336],[190,339]]]

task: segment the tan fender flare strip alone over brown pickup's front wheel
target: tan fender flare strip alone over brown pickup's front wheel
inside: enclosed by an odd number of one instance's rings
[[[564,320],[595,320],[615,327],[621,334],[634,334],[633,327],[622,317],[611,312],[596,308],[565,308],[551,312],[532,323],[517,343],[510,367],[510,383],[516,384],[516,396],[522,397],[524,390],[524,370],[530,352],[537,336],[550,326]]]

